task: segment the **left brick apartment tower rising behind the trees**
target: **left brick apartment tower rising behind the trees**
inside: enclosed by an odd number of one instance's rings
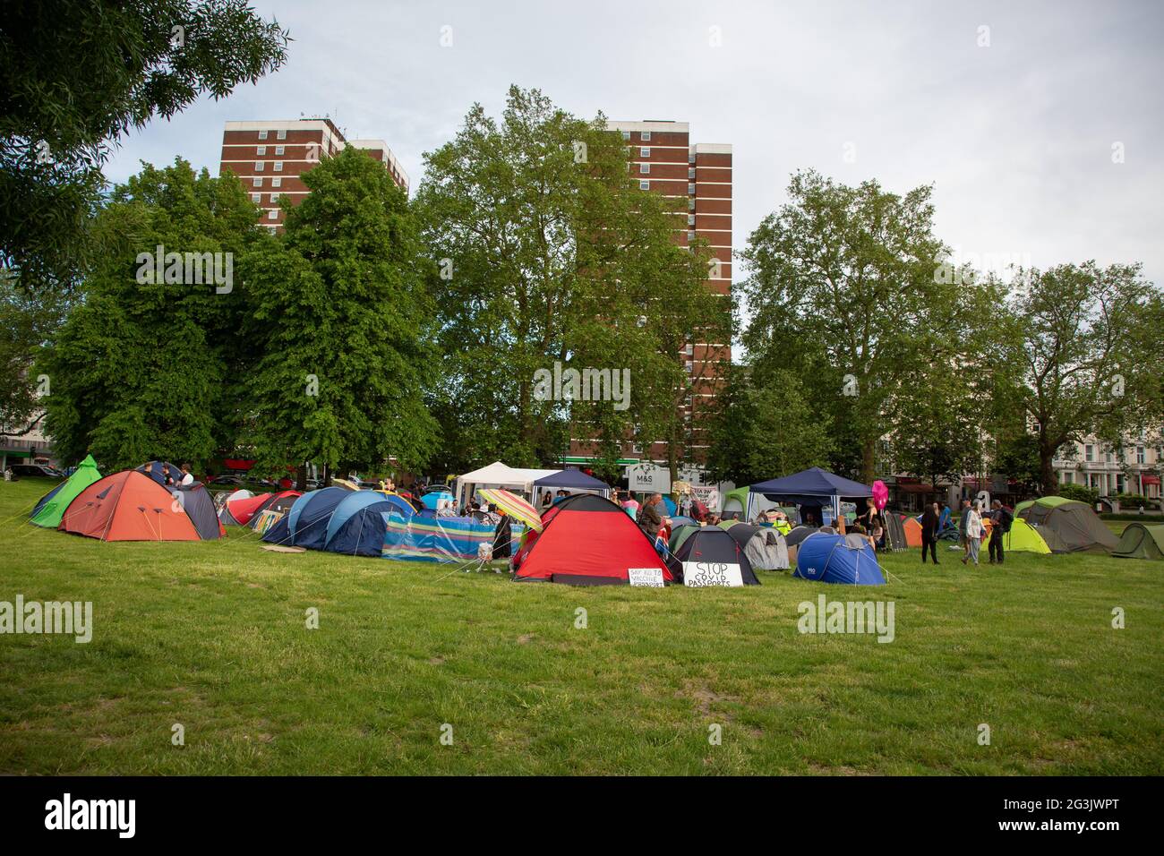
[[[409,176],[383,140],[346,140],[331,119],[278,119],[227,122],[222,132],[219,175],[229,169],[247,188],[251,201],[263,210],[263,225],[283,227],[279,198],[298,205],[310,192],[300,176],[345,146],[363,149],[384,164],[405,193]]]

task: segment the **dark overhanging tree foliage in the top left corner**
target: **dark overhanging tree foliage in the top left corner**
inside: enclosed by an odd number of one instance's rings
[[[285,59],[288,34],[246,0],[12,0],[0,5],[0,267],[71,283],[111,147],[203,94]]]

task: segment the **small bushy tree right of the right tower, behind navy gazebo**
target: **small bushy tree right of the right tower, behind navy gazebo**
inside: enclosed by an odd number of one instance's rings
[[[800,379],[787,369],[729,374],[723,408],[711,426],[708,466],[737,484],[797,473],[828,462],[829,417],[810,405]]]

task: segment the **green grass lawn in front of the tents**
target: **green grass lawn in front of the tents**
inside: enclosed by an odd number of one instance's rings
[[[26,522],[49,486],[0,484],[0,601],[92,601],[93,639],[0,636],[2,773],[1164,773],[1164,563],[579,589],[101,544]],[[801,635],[821,593],[894,601],[895,641]]]

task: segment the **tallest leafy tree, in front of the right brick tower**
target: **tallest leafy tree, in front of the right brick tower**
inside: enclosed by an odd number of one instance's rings
[[[445,355],[436,406],[455,454],[553,460],[573,423],[609,462],[636,424],[645,432],[662,425],[658,413],[674,417],[682,362],[665,319],[687,300],[684,271],[702,263],[702,280],[707,260],[675,247],[674,200],[638,189],[605,119],[576,119],[511,86],[499,121],[474,105],[456,139],[425,160],[417,203],[440,269]],[[668,307],[672,286],[682,296]],[[629,406],[540,395],[535,375],[555,363],[631,369]]]

